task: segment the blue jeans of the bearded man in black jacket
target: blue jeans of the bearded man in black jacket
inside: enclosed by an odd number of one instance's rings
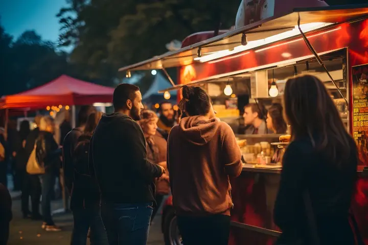
[[[110,245],[146,245],[152,202],[117,204],[101,202],[101,218]]]

